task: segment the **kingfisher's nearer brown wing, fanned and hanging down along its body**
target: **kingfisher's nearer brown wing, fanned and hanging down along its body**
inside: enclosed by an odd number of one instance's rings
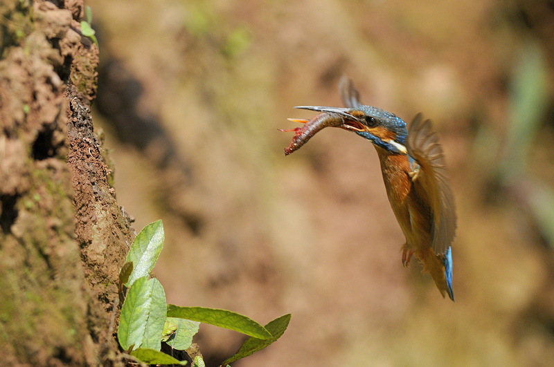
[[[406,149],[409,156],[420,165],[415,180],[420,185],[414,189],[425,190],[433,211],[434,227],[432,247],[435,254],[445,254],[456,232],[454,196],[448,182],[443,148],[438,136],[431,131],[431,120],[423,120],[418,113],[408,129]]]

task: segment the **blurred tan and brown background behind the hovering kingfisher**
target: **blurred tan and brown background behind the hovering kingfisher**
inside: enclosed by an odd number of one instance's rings
[[[235,365],[554,365],[553,1],[98,0],[93,120],[137,231],[161,218],[168,302],[285,335]],[[297,105],[365,104],[440,134],[456,303],[413,261],[377,154]],[[201,326],[208,366],[243,337]]]

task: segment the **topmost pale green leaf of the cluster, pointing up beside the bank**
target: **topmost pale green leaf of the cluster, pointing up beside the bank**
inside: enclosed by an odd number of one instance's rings
[[[134,238],[127,254],[127,261],[133,262],[134,269],[125,286],[130,287],[136,279],[150,275],[163,247],[163,238],[161,220],[150,223]]]

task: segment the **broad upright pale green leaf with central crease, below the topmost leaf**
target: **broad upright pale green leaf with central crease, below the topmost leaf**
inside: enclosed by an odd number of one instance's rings
[[[123,350],[140,346],[160,349],[166,321],[166,294],[157,279],[145,276],[129,288],[119,319],[117,338]]]

